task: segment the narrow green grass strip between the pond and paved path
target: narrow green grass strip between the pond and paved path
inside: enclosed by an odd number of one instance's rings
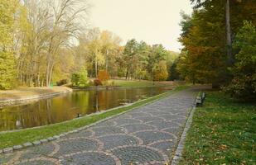
[[[0,134],[0,148],[12,147],[14,145],[24,144],[26,142],[32,142],[39,139],[46,139],[57,134],[62,134],[71,130],[79,129],[100,120],[105,120],[109,117],[114,117],[116,115],[121,115],[124,112],[132,111],[134,108],[147,105],[152,101],[157,101],[175,92],[180,92],[182,90],[185,90],[187,87],[188,86],[179,86],[169,92],[164,92],[154,97],[148,97],[147,99],[144,99],[142,101],[136,101],[131,106],[120,107],[112,111],[105,111],[104,113],[101,113],[99,115],[85,115],[84,117],[81,117],[79,119],[69,120],[54,125],[46,125],[34,129],[32,128],[2,133]]]

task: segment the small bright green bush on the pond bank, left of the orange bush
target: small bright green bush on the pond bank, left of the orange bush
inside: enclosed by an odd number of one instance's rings
[[[81,68],[78,73],[73,73],[71,76],[73,86],[85,87],[88,82],[87,70],[85,67]]]

